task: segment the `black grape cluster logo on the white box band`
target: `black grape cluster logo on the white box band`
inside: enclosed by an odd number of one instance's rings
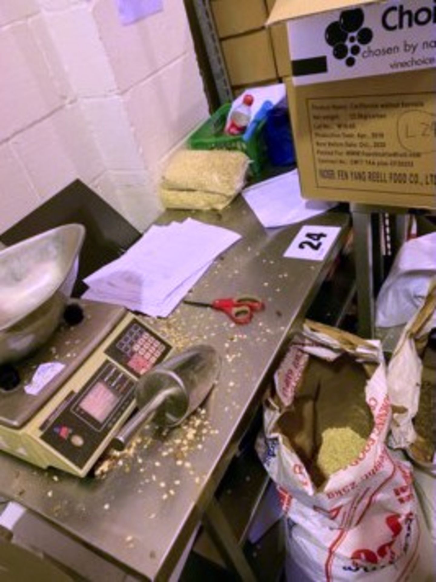
[[[363,26],[364,19],[362,8],[343,10],[339,20],[327,26],[326,42],[333,48],[334,58],[348,67],[356,64],[362,47],[373,40],[373,31]]]

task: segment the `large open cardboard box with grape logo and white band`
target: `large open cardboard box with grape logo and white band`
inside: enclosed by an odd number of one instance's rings
[[[436,2],[277,0],[284,20],[303,196],[435,209]]]

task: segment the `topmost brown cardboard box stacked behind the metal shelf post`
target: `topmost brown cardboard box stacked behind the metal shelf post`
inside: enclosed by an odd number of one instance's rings
[[[210,7],[220,38],[265,26],[267,12],[263,0],[212,0]]]

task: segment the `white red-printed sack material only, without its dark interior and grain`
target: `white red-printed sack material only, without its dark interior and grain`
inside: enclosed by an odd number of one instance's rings
[[[381,347],[308,321],[292,343],[277,375],[280,398],[271,395],[265,401],[264,432],[256,448],[283,498],[288,557],[299,573],[293,579],[405,579],[416,563],[419,526],[411,467],[385,446],[391,404]],[[308,354],[328,361],[349,354],[372,372],[364,387],[373,418],[366,444],[358,458],[318,489],[278,427],[298,393]]]

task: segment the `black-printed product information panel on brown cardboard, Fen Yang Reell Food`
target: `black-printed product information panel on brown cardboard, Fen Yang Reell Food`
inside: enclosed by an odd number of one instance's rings
[[[319,188],[434,196],[434,93],[308,98]]]

